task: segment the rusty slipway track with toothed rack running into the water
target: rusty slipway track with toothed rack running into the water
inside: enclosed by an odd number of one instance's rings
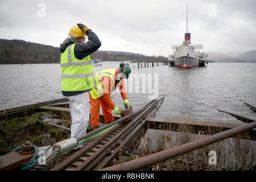
[[[142,106],[134,114],[130,114],[129,121],[115,124],[111,130],[92,142],[85,143],[79,151],[51,170],[98,170],[110,166],[120,151],[128,150],[146,133],[144,126],[147,118],[155,114],[162,102],[163,97]],[[122,121],[122,118],[118,120]]]

